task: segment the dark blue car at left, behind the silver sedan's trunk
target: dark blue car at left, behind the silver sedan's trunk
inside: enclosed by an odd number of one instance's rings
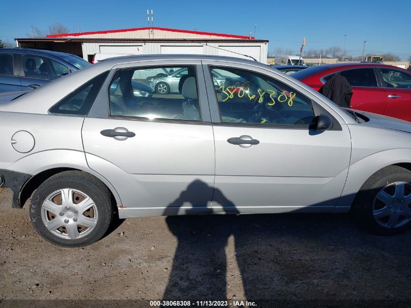
[[[33,90],[90,65],[73,54],[3,48],[0,49],[0,92]]]

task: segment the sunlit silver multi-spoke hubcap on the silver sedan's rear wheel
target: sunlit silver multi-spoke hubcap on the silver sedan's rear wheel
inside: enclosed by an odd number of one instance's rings
[[[88,235],[94,229],[98,212],[94,201],[87,194],[64,188],[44,200],[41,219],[54,235],[76,239]]]

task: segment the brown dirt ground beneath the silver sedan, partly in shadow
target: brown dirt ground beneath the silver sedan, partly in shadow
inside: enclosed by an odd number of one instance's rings
[[[10,199],[0,299],[411,300],[411,231],[370,235],[348,215],[135,218],[67,249]]]

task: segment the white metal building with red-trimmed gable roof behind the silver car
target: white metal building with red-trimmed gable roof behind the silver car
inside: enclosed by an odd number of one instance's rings
[[[91,61],[96,53],[213,54],[267,62],[268,40],[190,30],[144,27],[17,38],[18,47],[76,54]]]

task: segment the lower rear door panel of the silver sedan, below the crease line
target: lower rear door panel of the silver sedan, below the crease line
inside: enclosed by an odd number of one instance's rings
[[[129,174],[96,155],[86,153],[86,158],[93,170],[98,170],[116,187],[122,200],[117,204],[120,218],[184,215],[192,208],[189,200],[193,199],[205,201],[196,206],[197,214],[204,213],[211,205],[214,175]],[[204,189],[187,189],[195,181],[201,181]]]

